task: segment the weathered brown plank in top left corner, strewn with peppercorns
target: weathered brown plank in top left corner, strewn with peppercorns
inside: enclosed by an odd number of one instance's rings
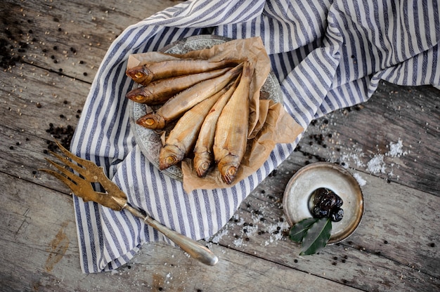
[[[91,83],[115,38],[129,25],[181,1],[11,1],[0,8],[0,38],[20,62]]]

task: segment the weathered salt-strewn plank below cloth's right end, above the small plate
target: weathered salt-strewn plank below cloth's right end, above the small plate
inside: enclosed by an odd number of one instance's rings
[[[320,159],[440,196],[440,91],[382,82],[361,105],[318,119],[300,143]]]

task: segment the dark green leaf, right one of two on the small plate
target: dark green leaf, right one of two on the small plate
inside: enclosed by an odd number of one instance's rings
[[[321,218],[309,226],[302,240],[302,249],[299,255],[311,255],[317,253],[327,245],[332,232],[332,221],[330,218]]]

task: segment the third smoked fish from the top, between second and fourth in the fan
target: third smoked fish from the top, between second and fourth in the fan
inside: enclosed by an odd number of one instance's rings
[[[201,81],[181,91],[165,102],[156,112],[145,114],[136,123],[150,129],[164,128],[169,121],[181,117],[191,107],[221,91],[222,88],[240,74],[242,66],[242,63],[240,63],[240,65],[229,69],[219,77]]]

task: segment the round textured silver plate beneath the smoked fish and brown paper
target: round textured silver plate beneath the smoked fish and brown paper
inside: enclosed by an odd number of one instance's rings
[[[160,52],[183,54],[188,53],[189,51],[211,48],[214,45],[223,44],[226,41],[231,41],[231,39],[223,36],[214,35],[190,36],[188,38],[181,39],[173,44],[165,46],[160,50]],[[138,85],[135,84],[135,86],[137,87]],[[275,102],[283,101],[283,94],[281,93],[280,84],[278,83],[278,79],[276,79],[273,72],[270,72],[270,74],[268,75],[268,78],[266,79],[266,82],[262,86],[260,92],[261,97],[268,96],[268,98]],[[136,143],[139,145],[142,153],[145,155],[145,157],[147,157],[148,161],[150,161],[156,168],[159,169],[159,153],[160,148],[162,147],[160,133],[136,124],[137,119],[144,116],[148,112],[153,112],[153,109],[132,100],[129,100],[129,107],[131,116],[131,127],[134,129],[134,137],[136,138]],[[183,180],[183,175],[179,164],[164,169],[162,172],[176,180]]]

